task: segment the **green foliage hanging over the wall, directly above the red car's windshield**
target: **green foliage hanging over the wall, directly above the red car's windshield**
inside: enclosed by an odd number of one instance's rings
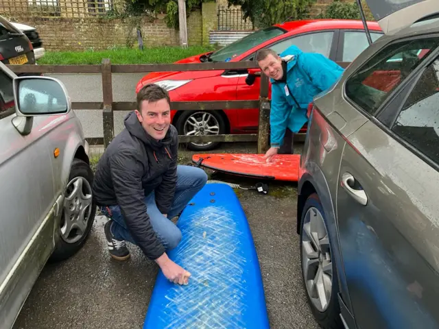
[[[316,0],[228,0],[228,5],[239,5],[244,19],[257,27],[268,27],[284,21],[305,19]]]

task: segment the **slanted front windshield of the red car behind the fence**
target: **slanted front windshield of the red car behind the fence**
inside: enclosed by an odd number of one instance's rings
[[[278,27],[268,27],[267,29],[260,29],[259,31],[253,32],[244,38],[236,40],[230,45],[215,51],[209,56],[209,62],[228,62],[229,60],[235,58],[236,56],[245,53],[249,49],[260,45],[262,42],[270,40],[276,36],[286,33],[285,29],[280,29]]]

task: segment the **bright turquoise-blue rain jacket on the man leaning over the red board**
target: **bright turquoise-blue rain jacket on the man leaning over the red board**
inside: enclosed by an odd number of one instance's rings
[[[296,46],[285,49],[280,56],[287,62],[287,83],[270,79],[272,147],[283,145],[287,128],[296,133],[303,127],[308,121],[307,108],[313,97],[329,89],[344,71],[341,66],[322,54],[304,53]]]

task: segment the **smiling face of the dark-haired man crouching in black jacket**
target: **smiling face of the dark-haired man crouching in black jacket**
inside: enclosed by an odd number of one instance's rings
[[[171,109],[166,99],[160,99],[152,103],[142,101],[142,106],[136,110],[139,119],[146,133],[157,141],[163,139],[171,124]]]

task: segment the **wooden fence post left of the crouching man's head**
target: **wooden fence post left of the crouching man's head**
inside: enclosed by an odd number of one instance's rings
[[[110,58],[102,58],[102,95],[104,110],[102,112],[102,127],[104,129],[104,147],[107,148],[114,138],[115,121],[112,112],[112,82]]]

